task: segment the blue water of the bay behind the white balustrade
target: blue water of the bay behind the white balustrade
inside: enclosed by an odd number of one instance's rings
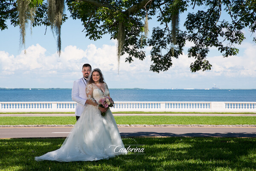
[[[114,101],[256,101],[252,90],[110,89]],[[71,89],[0,89],[0,101],[72,101]]]

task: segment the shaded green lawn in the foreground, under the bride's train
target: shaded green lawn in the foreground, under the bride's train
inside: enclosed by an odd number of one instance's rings
[[[256,138],[133,138],[143,155],[97,162],[36,162],[64,139],[0,139],[0,171],[255,171]],[[124,144],[126,144],[124,140]]]

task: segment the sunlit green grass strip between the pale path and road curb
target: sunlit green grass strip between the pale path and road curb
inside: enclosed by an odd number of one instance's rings
[[[255,116],[114,116],[117,124],[256,125]],[[67,125],[75,116],[2,116],[0,125]]]

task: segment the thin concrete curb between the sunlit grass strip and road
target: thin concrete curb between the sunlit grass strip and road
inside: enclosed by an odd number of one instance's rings
[[[21,128],[21,127],[73,127],[74,125],[0,125],[0,128]],[[256,127],[256,125],[176,125],[176,124],[161,124],[161,125],[122,125],[118,127]]]

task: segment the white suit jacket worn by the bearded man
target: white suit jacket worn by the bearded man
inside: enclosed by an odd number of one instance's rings
[[[85,104],[87,100],[85,88],[86,88],[86,81],[82,77],[73,83],[73,88],[72,88],[72,100],[76,101],[76,116],[81,116],[81,113],[84,110],[84,107],[87,105]]]

